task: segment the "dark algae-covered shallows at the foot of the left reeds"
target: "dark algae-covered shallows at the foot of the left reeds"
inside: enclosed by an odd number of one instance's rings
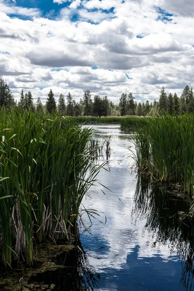
[[[96,281],[81,245],[41,244],[32,268],[0,268],[0,291],[92,290]]]

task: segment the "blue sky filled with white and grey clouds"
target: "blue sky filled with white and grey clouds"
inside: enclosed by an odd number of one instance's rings
[[[0,0],[0,77],[45,103],[194,87],[193,0]]]

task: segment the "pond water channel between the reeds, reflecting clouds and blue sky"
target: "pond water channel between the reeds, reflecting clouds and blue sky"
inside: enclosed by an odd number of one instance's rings
[[[189,200],[131,171],[132,140],[119,126],[93,128],[101,137],[111,136],[111,157],[98,179],[113,193],[98,185],[83,200],[100,215],[92,226],[82,216],[87,230],[81,227],[81,244],[98,277],[90,290],[194,290],[193,224],[184,215]]]

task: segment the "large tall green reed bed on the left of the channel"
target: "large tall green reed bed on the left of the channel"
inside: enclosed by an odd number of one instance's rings
[[[63,116],[0,111],[0,255],[32,265],[39,242],[78,236],[84,194],[102,165],[90,159],[92,129]]]

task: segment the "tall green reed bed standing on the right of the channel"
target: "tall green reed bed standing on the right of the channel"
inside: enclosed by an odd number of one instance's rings
[[[194,194],[194,115],[148,118],[133,134],[133,158],[139,172],[178,183]]]

